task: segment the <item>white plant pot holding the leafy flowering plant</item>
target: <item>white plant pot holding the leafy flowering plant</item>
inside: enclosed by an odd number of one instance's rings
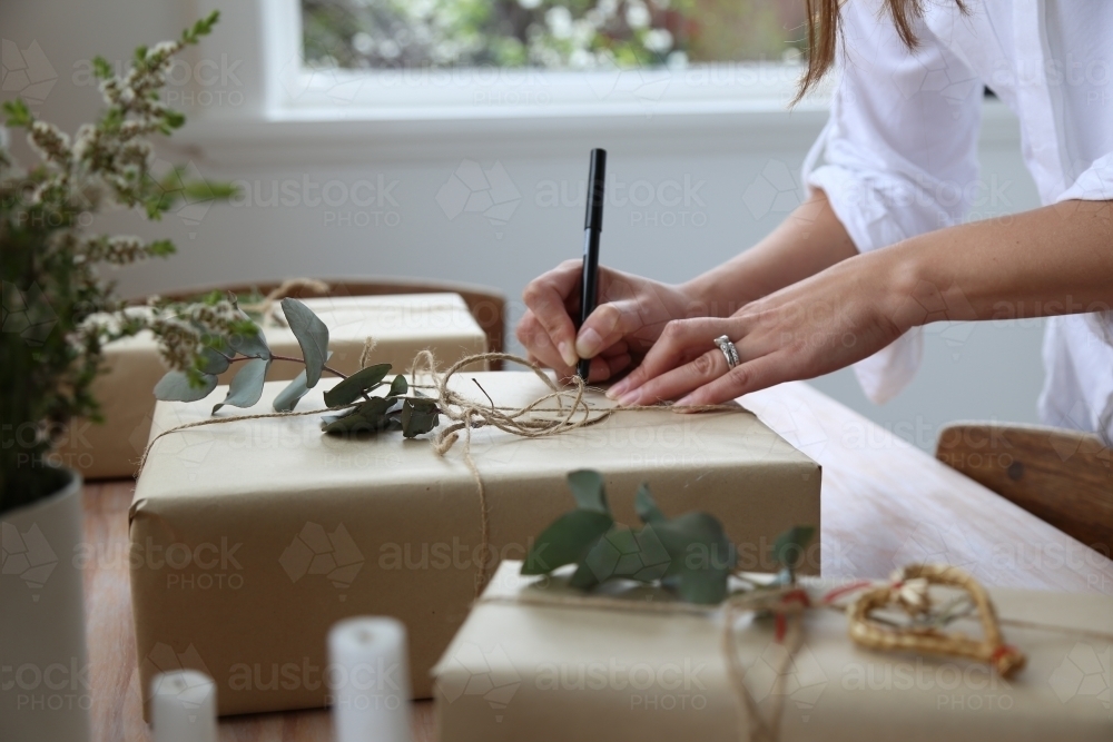
[[[81,477],[0,514],[0,740],[87,742]]]

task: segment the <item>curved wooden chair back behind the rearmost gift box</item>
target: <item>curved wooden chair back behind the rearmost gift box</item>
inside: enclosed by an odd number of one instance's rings
[[[322,278],[328,284],[327,296],[383,296],[387,294],[459,294],[463,297],[467,309],[475,318],[475,323],[486,335],[487,352],[503,353],[505,347],[505,315],[506,299],[499,291],[483,286],[470,284],[456,284],[452,281],[433,281],[420,278]],[[234,294],[245,295],[258,291],[266,295],[282,285],[282,281],[258,281],[252,284],[228,284],[220,286],[206,286],[203,288],[184,289],[162,294],[164,297],[174,300],[186,300],[200,294],[207,294],[214,289],[228,290]],[[303,298],[309,296],[322,296],[309,288],[297,288],[290,291],[290,296]],[[492,370],[502,368],[501,362],[489,364]]]

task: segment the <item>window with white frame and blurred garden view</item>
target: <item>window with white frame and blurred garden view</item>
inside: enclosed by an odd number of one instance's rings
[[[801,0],[276,0],[277,118],[784,110]]]

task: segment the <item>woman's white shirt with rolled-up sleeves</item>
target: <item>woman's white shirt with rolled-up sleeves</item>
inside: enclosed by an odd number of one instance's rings
[[[1113,199],[1113,1],[966,4],[969,16],[953,0],[928,0],[910,52],[879,0],[844,6],[840,81],[804,179],[826,191],[859,251],[959,224],[986,197],[977,168],[983,86],[1020,119],[1044,205]],[[922,355],[917,328],[855,370],[881,403],[912,379]],[[1051,317],[1044,364],[1043,421],[1113,441],[1113,313]]]

